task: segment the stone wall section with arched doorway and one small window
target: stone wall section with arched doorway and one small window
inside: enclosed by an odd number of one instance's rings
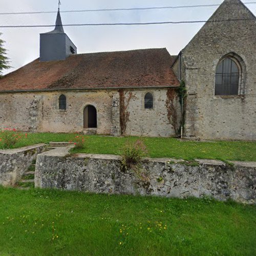
[[[58,98],[66,95],[67,110],[59,110]],[[0,94],[0,123],[32,132],[82,132],[83,109],[94,105],[98,133],[111,133],[111,91],[59,91]]]

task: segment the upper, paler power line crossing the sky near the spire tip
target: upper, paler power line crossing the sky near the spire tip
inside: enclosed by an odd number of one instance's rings
[[[243,3],[244,5],[256,4],[256,2]],[[103,12],[103,11],[134,11],[134,10],[161,10],[161,9],[179,9],[179,8],[199,8],[199,7],[215,7],[219,4],[212,5],[184,5],[184,6],[160,6],[160,7],[136,7],[136,8],[113,8],[113,9],[91,9],[91,10],[70,10],[61,11],[67,12]],[[1,12],[0,15],[16,15],[16,14],[41,14],[41,13],[56,13],[56,11],[38,11],[38,12]]]

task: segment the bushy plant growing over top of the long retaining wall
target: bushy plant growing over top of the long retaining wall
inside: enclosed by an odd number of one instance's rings
[[[135,176],[140,180],[147,181],[147,172],[141,165],[143,157],[147,156],[147,149],[143,141],[126,142],[122,150],[122,167],[133,170]]]

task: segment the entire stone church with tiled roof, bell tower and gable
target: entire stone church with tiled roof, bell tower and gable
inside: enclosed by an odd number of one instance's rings
[[[0,125],[256,140],[255,91],[256,17],[240,0],[224,0],[177,56],[166,49],[77,54],[58,10],[55,29],[40,34],[39,58],[0,79]]]

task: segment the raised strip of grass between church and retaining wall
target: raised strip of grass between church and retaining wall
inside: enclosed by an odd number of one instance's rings
[[[1,134],[0,134],[1,136]],[[32,145],[49,141],[70,141],[74,134],[61,133],[28,133],[27,138],[19,139],[15,147]],[[141,139],[147,146],[148,156],[182,158],[185,160],[219,159],[256,161],[256,142],[246,141],[180,141],[176,138],[149,138],[149,137],[110,137],[84,136],[84,150],[73,150],[73,153],[114,154],[120,155],[127,140]],[[2,142],[0,141],[0,147]]]

